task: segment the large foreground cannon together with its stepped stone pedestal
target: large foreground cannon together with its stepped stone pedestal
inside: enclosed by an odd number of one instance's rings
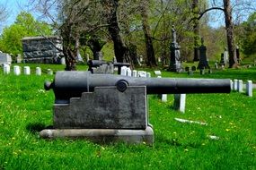
[[[227,79],[134,78],[92,72],[57,72],[53,82],[53,129],[42,138],[154,143],[148,94],[229,93]]]

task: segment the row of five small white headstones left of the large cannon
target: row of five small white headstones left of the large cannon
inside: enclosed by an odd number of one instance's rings
[[[4,74],[9,74],[11,72],[11,66],[9,64],[4,64]],[[51,69],[47,70],[49,75],[52,75],[53,72]],[[22,74],[22,68],[18,65],[14,65],[13,66],[13,73],[14,75],[20,75]],[[31,74],[31,68],[29,66],[24,66],[23,68],[23,73],[25,75],[30,75]],[[36,67],[36,75],[41,75],[41,68],[40,67]]]

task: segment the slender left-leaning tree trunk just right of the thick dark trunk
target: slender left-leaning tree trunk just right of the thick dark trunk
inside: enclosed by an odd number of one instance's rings
[[[152,42],[152,36],[150,33],[150,27],[148,23],[148,15],[147,15],[148,2],[147,0],[143,1],[141,5],[141,16],[142,16],[142,25],[146,42],[146,65],[147,66],[156,66],[156,61],[154,57],[154,47]]]

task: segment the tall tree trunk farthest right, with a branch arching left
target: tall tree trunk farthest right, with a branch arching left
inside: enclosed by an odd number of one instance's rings
[[[232,7],[230,0],[223,0],[224,13],[225,13],[225,28],[226,28],[226,38],[227,47],[229,55],[229,67],[234,68],[237,66],[237,58],[235,55],[235,45],[234,45],[234,23],[232,20]]]

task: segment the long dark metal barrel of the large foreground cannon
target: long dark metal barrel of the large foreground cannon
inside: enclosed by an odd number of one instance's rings
[[[116,86],[121,92],[128,86],[146,86],[147,94],[230,92],[229,79],[134,78],[78,71],[57,72],[55,81],[45,83],[45,89],[54,90],[56,103],[68,103],[70,98],[80,98],[83,92],[108,86]]]

